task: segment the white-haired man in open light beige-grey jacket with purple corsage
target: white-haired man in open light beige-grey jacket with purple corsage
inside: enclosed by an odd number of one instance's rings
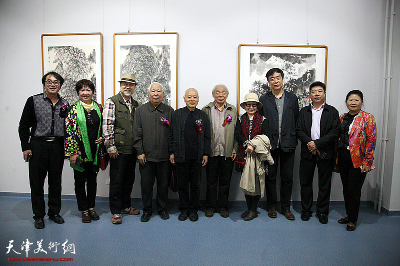
[[[215,85],[212,88],[214,101],[202,109],[208,116],[211,136],[210,156],[205,166],[207,173],[206,217],[212,217],[214,212],[218,211],[223,218],[229,216],[227,206],[229,184],[238,144],[234,137],[237,110],[226,102],[228,95],[229,91],[225,85]]]

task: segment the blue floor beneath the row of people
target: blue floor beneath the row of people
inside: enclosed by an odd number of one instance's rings
[[[71,197],[70,197],[71,198]],[[259,208],[253,221],[243,221],[244,202],[232,202],[229,218],[215,214],[206,218],[203,210],[197,222],[178,221],[177,201],[169,206],[169,220],[153,215],[141,223],[140,215],[122,216],[122,224],[111,224],[108,201],[100,198],[96,211],[100,220],[83,224],[76,201],[62,200],[64,224],[45,218],[45,228],[33,226],[30,198],[0,195],[3,214],[0,218],[0,265],[21,265],[20,260],[72,258],[61,265],[400,265],[400,217],[377,213],[363,204],[357,228],[347,232],[337,220],[344,207],[332,203],[329,222],[322,225],[315,216],[307,222],[300,219],[300,208],[292,209],[295,221],[278,214],[276,219]],[[133,206],[141,208],[139,199]],[[264,208],[265,202],[260,206]],[[6,254],[9,241],[12,249]],[[21,251],[28,240],[30,245]],[[42,241],[38,252],[37,242]],[[69,250],[64,251],[61,245]],[[59,243],[57,252],[49,243]],[[68,244],[73,244],[68,246]],[[75,254],[72,254],[74,247]],[[15,254],[19,252],[21,254]],[[60,265],[59,262],[29,262],[37,265]]]

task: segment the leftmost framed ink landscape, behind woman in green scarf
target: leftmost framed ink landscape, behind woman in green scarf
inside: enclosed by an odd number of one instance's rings
[[[95,87],[93,100],[103,100],[103,42],[101,33],[42,34],[41,58],[43,75],[55,71],[64,78],[59,94],[69,104],[79,98],[75,84],[91,80]]]

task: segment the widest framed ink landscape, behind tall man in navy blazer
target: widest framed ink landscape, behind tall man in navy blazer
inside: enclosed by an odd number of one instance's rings
[[[282,69],[283,89],[297,96],[300,109],[310,104],[309,85],[326,84],[327,53],[327,46],[239,44],[237,106],[248,92],[259,97],[270,90],[265,74],[274,67]]]

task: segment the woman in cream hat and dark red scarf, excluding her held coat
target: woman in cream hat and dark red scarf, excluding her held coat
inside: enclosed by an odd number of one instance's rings
[[[235,137],[239,143],[236,157],[236,172],[243,172],[246,154],[254,152],[254,147],[248,142],[257,135],[268,135],[268,120],[260,113],[257,113],[257,110],[261,106],[262,103],[258,101],[258,96],[251,92],[247,93],[244,96],[244,101],[240,103],[240,107],[246,110],[246,112],[242,114],[236,122]],[[242,213],[240,217],[245,221],[250,221],[258,216],[258,201],[261,191],[263,190],[260,185],[263,182],[260,182],[256,171],[254,175],[248,176],[248,179],[252,179],[251,181],[255,184],[255,192],[244,191],[247,210]]]

